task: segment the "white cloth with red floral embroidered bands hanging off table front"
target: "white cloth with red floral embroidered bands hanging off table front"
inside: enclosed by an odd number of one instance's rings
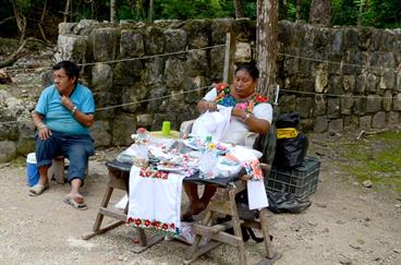
[[[132,166],[126,224],[180,234],[184,176]]]

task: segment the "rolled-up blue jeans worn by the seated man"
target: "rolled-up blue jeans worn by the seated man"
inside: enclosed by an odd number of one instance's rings
[[[70,135],[51,132],[48,140],[35,135],[35,154],[37,167],[51,166],[54,156],[62,155],[70,160],[69,181],[81,179],[84,181],[88,157],[95,154],[94,141],[88,134]]]

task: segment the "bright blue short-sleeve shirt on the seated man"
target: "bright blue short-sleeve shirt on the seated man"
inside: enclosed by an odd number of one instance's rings
[[[95,113],[95,99],[86,86],[77,84],[70,100],[83,113]],[[88,128],[81,124],[71,111],[61,105],[61,95],[54,85],[46,87],[36,105],[35,111],[45,117],[44,122],[51,131],[69,134],[89,134]]]

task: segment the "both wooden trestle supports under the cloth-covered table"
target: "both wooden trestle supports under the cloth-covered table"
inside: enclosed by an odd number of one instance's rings
[[[106,189],[104,198],[101,201],[95,225],[93,228],[93,232],[83,236],[82,238],[87,240],[97,234],[101,234],[108,230],[111,230],[126,220],[127,205],[125,206],[125,210],[116,210],[108,208],[111,194],[114,189],[120,189],[129,192],[129,180],[130,180],[130,164],[119,162],[117,160],[109,161],[106,164],[108,167],[109,173],[109,182]],[[241,173],[241,176],[243,176]],[[206,252],[215,249],[217,245],[221,243],[227,243],[238,248],[238,263],[246,264],[245,256],[245,248],[242,239],[241,226],[251,227],[254,229],[262,230],[262,234],[264,237],[264,244],[266,249],[266,256],[262,260],[260,264],[272,264],[275,261],[280,258],[280,254],[272,252],[272,244],[270,241],[269,230],[268,230],[268,216],[267,208],[263,208],[259,210],[259,219],[254,221],[245,221],[240,219],[236,203],[235,203],[235,194],[243,191],[245,189],[245,182],[239,178],[239,176],[233,176],[232,178],[227,179],[215,179],[215,180],[204,180],[199,179],[197,176],[185,178],[184,181],[197,182],[197,183],[214,183],[220,190],[219,197],[215,197],[210,201],[206,215],[200,224],[194,224],[194,232],[195,232],[195,241],[187,250],[185,254],[184,264],[190,264],[194,262],[198,256],[205,254]],[[223,224],[214,224],[214,217],[216,214],[223,214],[231,217],[230,221]],[[104,217],[108,216],[117,219],[118,221],[101,228],[101,222]],[[227,233],[226,230],[229,228],[233,228],[234,234]],[[162,234],[155,234],[151,237],[147,237],[144,229],[135,228],[138,233],[139,243],[133,248],[133,252],[139,253],[158,241],[162,240]],[[199,242],[203,238],[210,239],[209,242],[205,245],[199,245]]]

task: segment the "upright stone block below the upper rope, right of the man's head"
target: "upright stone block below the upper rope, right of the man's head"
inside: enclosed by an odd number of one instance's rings
[[[112,88],[112,69],[109,64],[96,63],[92,69],[93,92],[107,92]]]

